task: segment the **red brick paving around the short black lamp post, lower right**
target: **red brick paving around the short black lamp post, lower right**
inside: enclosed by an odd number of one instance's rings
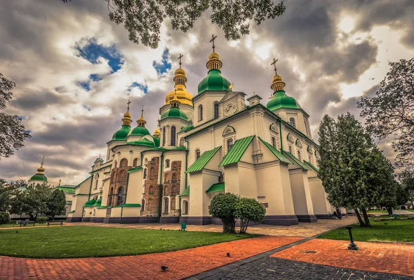
[[[355,243],[359,247],[358,251],[348,250],[349,241],[312,239],[270,257],[414,276],[413,245],[359,241]]]

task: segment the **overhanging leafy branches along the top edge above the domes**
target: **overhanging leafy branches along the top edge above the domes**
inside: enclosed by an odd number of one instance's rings
[[[68,0],[62,0],[67,3]],[[71,1],[71,0],[69,0]],[[260,25],[284,13],[283,1],[272,0],[105,0],[109,19],[124,24],[130,41],[157,48],[159,30],[164,19],[171,21],[173,30],[187,32],[206,10],[211,10],[211,22],[224,31],[227,40],[249,34],[250,21]]]

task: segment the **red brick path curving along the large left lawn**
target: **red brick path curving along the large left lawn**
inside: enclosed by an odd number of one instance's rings
[[[0,279],[182,279],[301,239],[264,236],[176,252],[128,257],[83,259],[0,257]],[[230,252],[230,257],[226,256],[227,252]],[[168,270],[161,272],[161,265],[168,266]]]

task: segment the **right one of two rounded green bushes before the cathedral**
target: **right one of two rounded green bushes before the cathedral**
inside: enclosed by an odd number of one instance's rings
[[[246,233],[249,222],[264,221],[266,208],[253,198],[240,197],[235,207],[235,217],[240,219],[240,233]]]

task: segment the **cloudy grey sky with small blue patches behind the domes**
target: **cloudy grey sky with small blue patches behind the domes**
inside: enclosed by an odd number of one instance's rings
[[[207,74],[217,35],[222,74],[233,90],[253,91],[268,102],[274,75],[311,115],[313,138],[324,114],[336,118],[373,96],[390,61],[414,56],[414,1],[286,0],[286,12],[256,26],[239,41],[226,41],[206,12],[187,33],[161,27],[156,50],[128,41],[122,25],[108,19],[103,0],[3,1],[0,6],[0,73],[14,81],[6,113],[17,114],[32,135],[9,158],[0,177],[28,180],[45,155],[51,184],[77,184],[121,127],[128,98],[136,126],[144,105],[146,127],[157,126],[159,107],[172,89],[183,54],[193,96]],[[411,31],[411,32],[410,32]],[[361,118],[359,118],[361,119]],[[362,119],[361,119],[362,120]],[[363,120],[362,120],[363,121]],[[378,142],[390,160],[391,139]]]

